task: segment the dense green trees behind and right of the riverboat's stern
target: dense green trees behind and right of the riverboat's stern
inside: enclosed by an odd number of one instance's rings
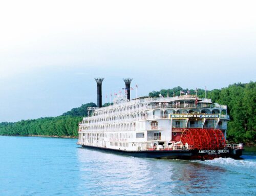
[[[182,89],[180,86],[173,89],[153,91],[151,97],[173,97],[180,95],[180,91],[195,95],[193,89]],[[228,122],[227,139],[232,142],[256,143],[256,82],[234,83],[221,90],[206,91],[207,98],[212,102],[227,105],[230,115]],[[205,90],[198,89],[198,97],[205,97]]]

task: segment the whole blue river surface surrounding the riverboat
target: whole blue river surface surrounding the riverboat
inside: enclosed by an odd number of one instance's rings
[[[256,195],[253,148],[244,160],[202,162],[113,155],[76,142],[0,136],[0,195]]]

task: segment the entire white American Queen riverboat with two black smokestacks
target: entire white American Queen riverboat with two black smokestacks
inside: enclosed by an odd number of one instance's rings
[[[130,100],[118,94],[113,105],[102,107],[101,83],[97,78],[98,107],[88,108],[79,123],[78,143],[82,147],[146,158],[208,160],[239,159],[243,144],[227,144],[227,106],[197,95]]]

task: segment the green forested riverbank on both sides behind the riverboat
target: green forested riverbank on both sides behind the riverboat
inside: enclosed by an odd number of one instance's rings
[[[193,89],[177,86],[149,93],[151,97],[180,95],[180,91],[195,94]],[[204,97],[205,90],[198,89],[198,96]],[[212,102],[227,105],[230,121],[227,139],[231,142],[254,143],[256,140],[256,82],[235,83],[226,88],[207,91]],[[78,122],[88,114],[87,107],[95,103],[83,104],[58,117],[45,117],[19,122],[0,123],[0,135],[6,136],[57,136],[77,137]]]

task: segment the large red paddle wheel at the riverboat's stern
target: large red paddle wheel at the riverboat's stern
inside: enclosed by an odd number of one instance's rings
[[[226,145],[225,137],[220,129],[188,128],[181,134],[181,142],[192,146],[192,149],[223,148]]]

